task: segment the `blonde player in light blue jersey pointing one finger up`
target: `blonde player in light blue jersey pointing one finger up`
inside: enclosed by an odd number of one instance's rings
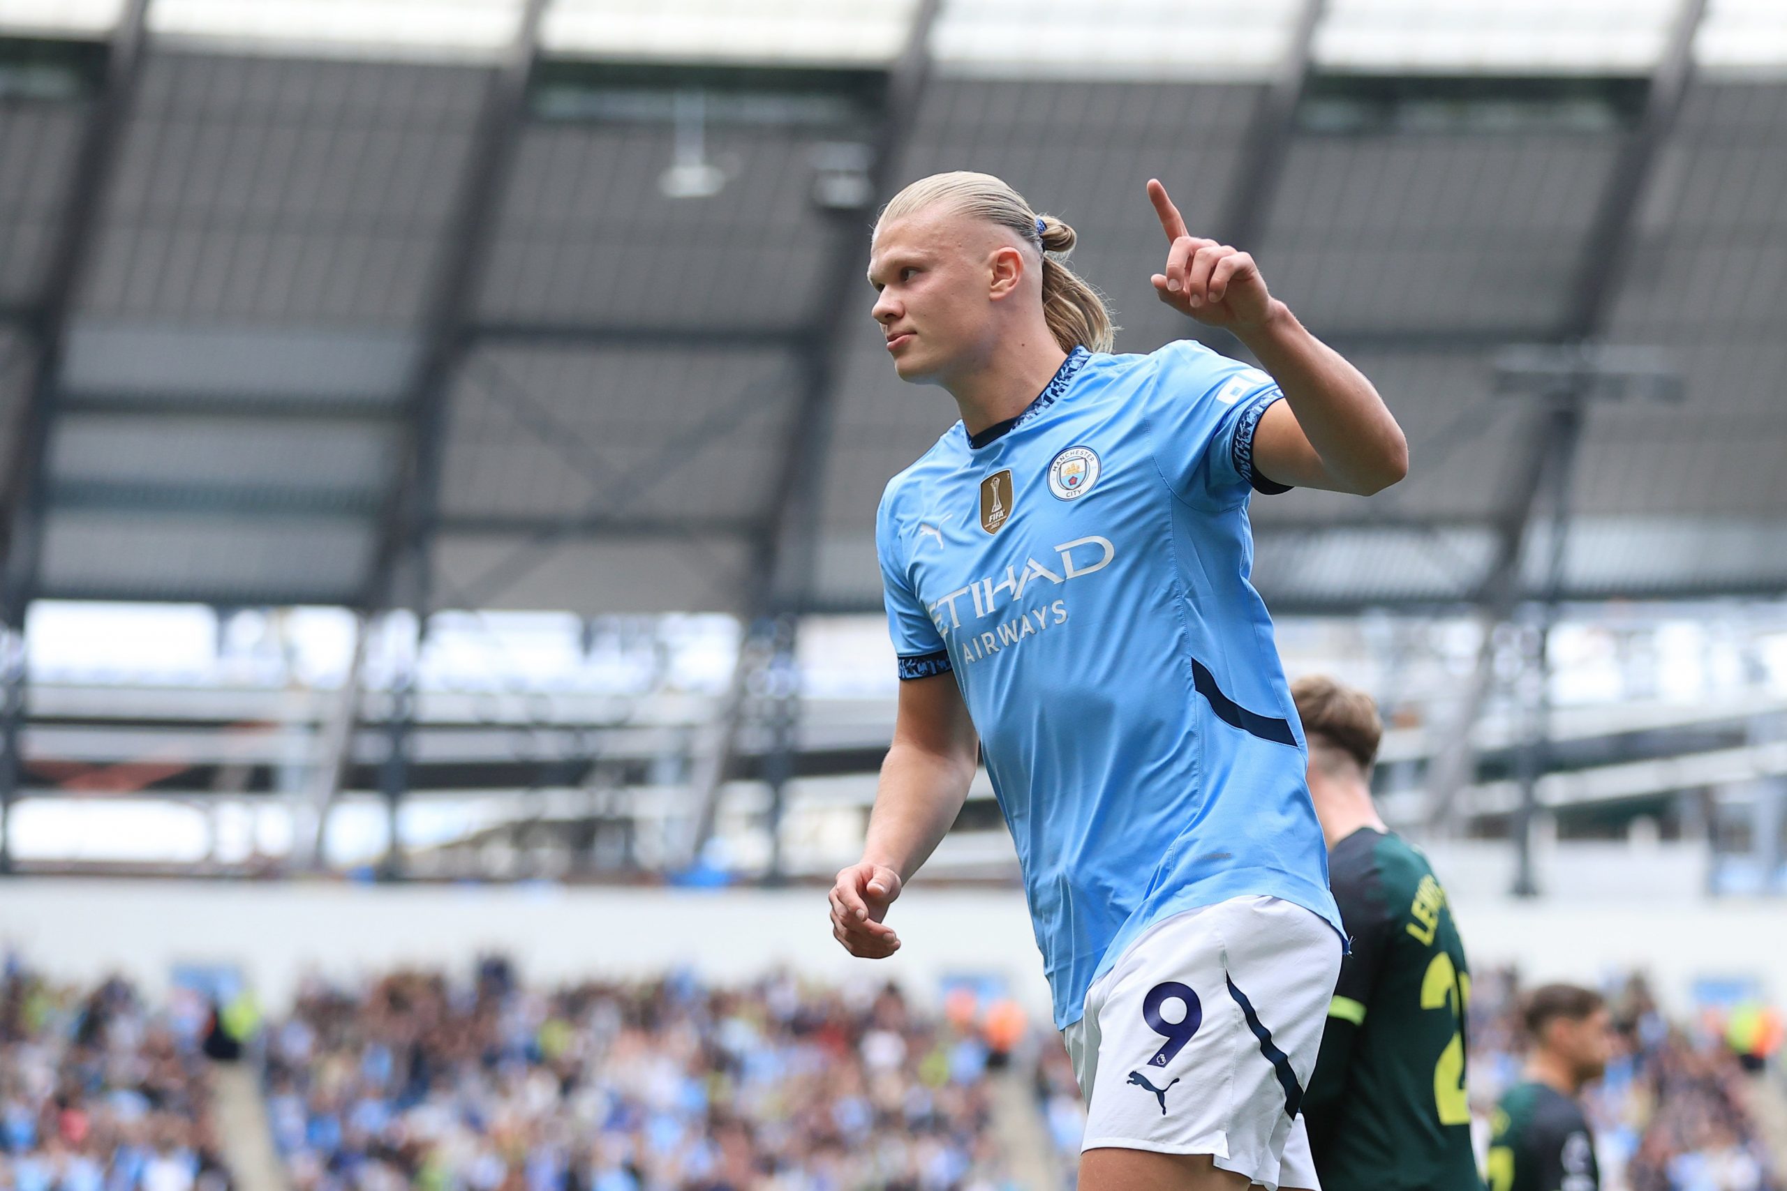
[[[1371,382],[1192,237],[1160,182],[1156,295],[1192,339],[1110,355],[1074,230],[999,179],[913,182],[876,227],[874,318],[961,421],[886,487],[894,745],[833,934],[883,921],[986,770],[1086,1096],[1079,1189],[1313,1187],[1297,1111],[1340,966],[1303,739],[1247,580],[1247,498],[1374,493],[1406,443]]]

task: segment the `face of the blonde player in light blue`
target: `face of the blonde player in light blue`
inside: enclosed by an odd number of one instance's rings
[[[919,211],[876,229],[868,282],[874,320],[901,380],[945,380],[992,337],[986,229],[945,211]]]

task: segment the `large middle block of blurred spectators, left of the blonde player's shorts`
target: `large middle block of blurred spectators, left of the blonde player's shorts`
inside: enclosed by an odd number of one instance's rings
[[[266,1039],[297,1191],[1003,1191],[974,1030],[776,977],[309,980]]]

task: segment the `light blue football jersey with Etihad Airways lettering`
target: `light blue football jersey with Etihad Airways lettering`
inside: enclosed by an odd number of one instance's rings
[[[1169,914],[1269,895],[1340,930],[1303,729],[1249,582],[1283,395],[1199,343],[1076,348],[881,498],[902,679],[954,671],[1024,868],[1054,1023]],[[1344,936],[1342,936],[1344,937]]]

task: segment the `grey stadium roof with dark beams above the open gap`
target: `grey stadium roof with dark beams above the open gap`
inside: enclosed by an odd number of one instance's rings
[[[1256,500],[1274,609],[1787,586],[1769,0],[13,0],[5,612],[877,607],[952,409],[867,229],[949,168],[1133,352],[1158,175],[1378,382],[1414,471]]]

